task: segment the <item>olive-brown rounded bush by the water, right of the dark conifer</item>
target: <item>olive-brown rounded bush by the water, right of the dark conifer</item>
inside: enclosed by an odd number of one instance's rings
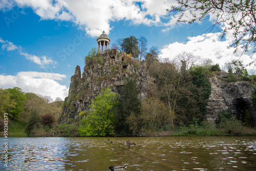
[[[159,99],[145,99],[141,104],[141,113],[130,115],[126,122],[134,134],[147,135],[162,131],[165,125],[171,124],[174,116],[170,112]]]

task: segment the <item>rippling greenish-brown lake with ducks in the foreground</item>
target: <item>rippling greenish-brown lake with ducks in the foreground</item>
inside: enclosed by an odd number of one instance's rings
[[[10,160],[4,166],[1,138],[0,170],[256,170],[255,136],[8,139]]]

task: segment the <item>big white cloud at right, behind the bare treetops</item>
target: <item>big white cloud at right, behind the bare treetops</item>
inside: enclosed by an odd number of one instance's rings
[[[227,34],[230,35],[231,34]],[[188,37],[187,42],[174,42],[173,44],[165,45],[161,51],[161,57],[173,59],[182,51],[191,52],[194,55],[199,55],[202,58],[212,59],[215,63],[219,63],[220,67],[224,67],[225,62],[232,59],[240,59],[244,65],[256,59],[256,54],[244,53],[239,50],[233,54],[234,48],[227,48],[230,45],[230,38],[220,40],[221,33],[208,33],[196,37]],[[242,55],[241,55],[242,54]],[[247,68],[249,72],[255,70],[251,65]]]

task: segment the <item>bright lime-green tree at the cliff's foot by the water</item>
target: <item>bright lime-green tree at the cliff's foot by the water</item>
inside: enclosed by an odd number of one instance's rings
[[[92,100],[88,115],[80,122],[81,136],[108,136],[115,133],[116,117],[113,106],[118,103],[118,94],[111,92],[110,88],[101,93]]]

